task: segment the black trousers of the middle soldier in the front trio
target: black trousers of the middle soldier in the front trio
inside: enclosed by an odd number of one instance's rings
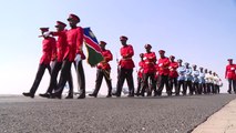
[[[57,60],[53,62],[53,65],[51,65],[52,72],[51,72],[50,84],[47,90],[47,93],[52,93],[52,91],[57,89],[57,83],[58,83],[57,78],[61,68],[62,68],[62,62],[58,62]],[[73,80],[72,80],[71,71],[70,71],[70,76],[68,79],[68,83],[70,89],[69,95],[73,95]]]

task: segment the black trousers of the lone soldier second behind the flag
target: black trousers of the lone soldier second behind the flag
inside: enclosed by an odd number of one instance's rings
[[[124,80],[127,81],[129,94],[134,95],[134,80],[133,80],[133,69],[120,69],[117,79],[117,90],[116,95],[121,96],[121,91],[123,89]]]

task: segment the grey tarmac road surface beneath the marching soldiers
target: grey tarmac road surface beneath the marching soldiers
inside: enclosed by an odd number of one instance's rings
[[[222,108],[235,103],[236,112],[235,99],[235,94],[83,100],[0,95],[0,133],[189,133],[204,129],[202,124]],[[220,115],[214,121],[219,120]]]

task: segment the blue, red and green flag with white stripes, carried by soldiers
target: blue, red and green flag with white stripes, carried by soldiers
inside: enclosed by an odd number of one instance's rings
[[[99,42],[90,28],[84,28],[83,33],[84,43],[89,54],[88,63],[91,66],[95,66],[99,62],[103,61],[102,49],[100,48]]]

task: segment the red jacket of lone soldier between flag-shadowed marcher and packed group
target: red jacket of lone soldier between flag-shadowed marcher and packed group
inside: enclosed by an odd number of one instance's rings
[[[135,66],[132,60],[132,57],[134,55],[133,47],[131,44],[122,47],[120,53],[122,59],[120,60],[119,65],[123,69],[133,69]]]

